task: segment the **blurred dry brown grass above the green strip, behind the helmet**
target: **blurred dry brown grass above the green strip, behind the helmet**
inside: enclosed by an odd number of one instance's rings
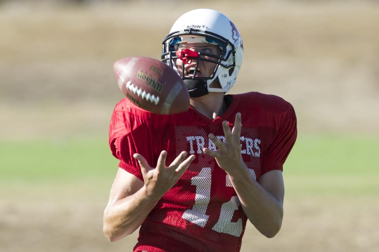
[[[257,90],[282,96],[294,105],[300,132],[378,133],[377,3],[217,6],[239,27],[246,48],[234,93]],[[197,2],[196,7],[215,4]],[[162,5],[146,2],[34,9],[4,5],[0,110],[7,114],[7,125],[0,126],[0,136],[10,135],[9,128],[27,135],[30,130],[14,122],[30,113],[38,119],[28,125],[36,136],[55,133],[56,123],[47,120],[50,114],[41,106],[62,113],[61,120],[77,122],[91,110],[82,104],[92,104],[105,108],[97,121],[108,122],[113,105],[122,98],[113,62],[132,55],[159,58],[171,23],[195,6],[185,2],[171,8],[172,14],[163,15]],[[70,115],[72,109],[80,113]],[[106,127],[100,124],[96,130],[104,132]],[[67,134],[84,132],[81,126]]]

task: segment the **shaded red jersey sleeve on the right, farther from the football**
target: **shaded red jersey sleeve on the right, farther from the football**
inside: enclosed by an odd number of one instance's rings
[[[287,103],[287,102],[286,102]],[[277,114],[279,129],[262,159],[261,176],[271,170],[283,171],[283,164],[296,141],[296,114],[290,103],[286,110]]]

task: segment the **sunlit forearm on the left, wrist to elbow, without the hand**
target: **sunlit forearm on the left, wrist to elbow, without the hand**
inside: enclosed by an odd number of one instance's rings
[[[135,194],[108,204],[104,211],[103,232],[110,241],[133,233],[157,204],[142,187]]]

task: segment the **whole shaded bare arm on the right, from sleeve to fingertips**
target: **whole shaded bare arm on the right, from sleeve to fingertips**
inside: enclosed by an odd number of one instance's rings
[[[222,123],[225,142],[215,135],[209,138],[218,150],[204,148],[226,171],[249,221],[265,236],[271,238],[279,232],[283,219],[284,184],[282,171],[273,170],[260,177],[259,183],[250,175],[241,155],[241,114],[237,113],[233,130],[227,121]]]

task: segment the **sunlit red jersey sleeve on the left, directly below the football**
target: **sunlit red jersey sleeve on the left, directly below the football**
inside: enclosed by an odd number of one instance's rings
[[[119,167],[142,181],[141,168],[133,154],[139,153],[150,166],[155,165],[151,132],[148,120],[116,105],[109,128],[110,149],[113,156],[120,160]]]

